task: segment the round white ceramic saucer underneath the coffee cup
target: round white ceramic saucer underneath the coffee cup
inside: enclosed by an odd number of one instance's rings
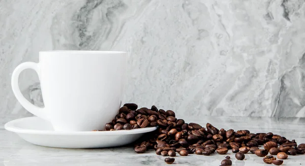
[[[25,141],[56,148],[106,148],[130,144],[158,127],[116,131],[54,131],[50,122],[39,117],[12,120],[5,129]]]

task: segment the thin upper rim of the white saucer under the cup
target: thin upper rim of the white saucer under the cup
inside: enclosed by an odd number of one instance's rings
[[[22,123],[24,120],[41,119],[37,116],[19,118],[11,120],[5,123],[4,128],[8,131],[20,133],[20,134],[35,134],[35,135],[56,135],[56,136],[113,136],[113,135],[133,135],[141,134],[156,130],[158,127],[145,127],[131,130],[113,130],[113,131],[50,131],[50,130],[39,130],[39,129],[26,129],[16,127],[16,123]],[[21,121],[21,122],[20,122]],[[24,123],[24,122],[23,122]]]

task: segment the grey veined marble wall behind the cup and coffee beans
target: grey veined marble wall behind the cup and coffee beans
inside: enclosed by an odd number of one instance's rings
[[[127,51],[124,103],[178,116],[305,116],[304,0],[2,0],[0,28],[9,119],[31,115],[12,93],[13,69],[44,50]],[[43,106],[33,71],[20,88]]]

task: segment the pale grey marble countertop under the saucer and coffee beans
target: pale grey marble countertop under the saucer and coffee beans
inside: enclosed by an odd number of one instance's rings
[[[197,119],[196,119],[197,118]],[[305,143],[305,118],[260,117],[187,117],[186,122],[206,122],[218,128],[249,129],[251,132],[273,132],[289,140]],[[132,147],[105,149],[61,149],[33,145],[4,129],[6,119],[0,119],[0,165],[167,165],[154,150],[136,154]],[[232,165],[268,165],[254,154],[243,161],[232,158]],[[175,165],[220,165],[226,155],[203,156],[190,154],[175,157]],[[289,156],[283,165],[305,165],[305,155]]]

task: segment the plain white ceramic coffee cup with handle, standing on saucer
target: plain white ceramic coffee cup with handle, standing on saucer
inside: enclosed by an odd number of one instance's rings
[[[24,62],[14,70],[12,89],[27,111],[50,121],[54,130],[102,130],[121,105],[126,59],[119,51],[41,51],[39,63]],[[25,69],[38,73],[44,108],[28,102],[19,89]]]

